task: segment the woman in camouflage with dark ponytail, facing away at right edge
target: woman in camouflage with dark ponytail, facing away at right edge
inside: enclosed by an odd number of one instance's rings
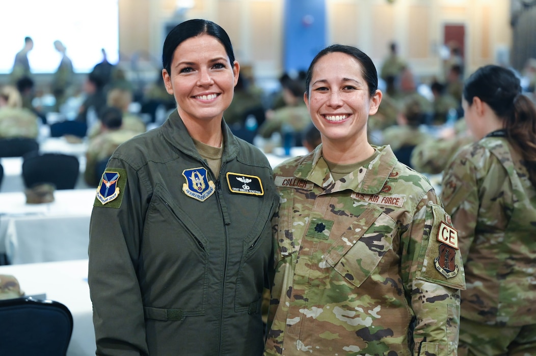
[[[450,162],[441,193],[467,281],[458,354],[533,355],[536,108],[515,73],[496,65],[467,79],[463,108],[479,141]]]

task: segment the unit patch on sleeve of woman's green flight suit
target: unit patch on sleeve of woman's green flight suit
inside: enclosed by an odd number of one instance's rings
[[[122,168],[106,168],[97,187],[94,207],[118,209],[123,201],[126,171]]]

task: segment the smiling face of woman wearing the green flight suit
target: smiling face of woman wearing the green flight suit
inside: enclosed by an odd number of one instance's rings
[[[170,73],[164,69],[162,77],[187,127],[191,122],[221,120],[233,100],[239,69],[213,36],[190,37],[177,46]]]

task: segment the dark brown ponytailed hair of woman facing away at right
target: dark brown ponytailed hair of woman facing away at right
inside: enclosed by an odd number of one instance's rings
[[[497,65],[480,67],[465,81],[463,96],[469,104],[478,97],[503,120],[508,142],[522,155],[536,187],[536,107],[522,94],[516,74]]]

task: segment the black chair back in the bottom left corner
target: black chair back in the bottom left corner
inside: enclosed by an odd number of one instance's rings
[[[0,355],[64,356],[72,335],[72,314],[52,300],[0,300]]]

